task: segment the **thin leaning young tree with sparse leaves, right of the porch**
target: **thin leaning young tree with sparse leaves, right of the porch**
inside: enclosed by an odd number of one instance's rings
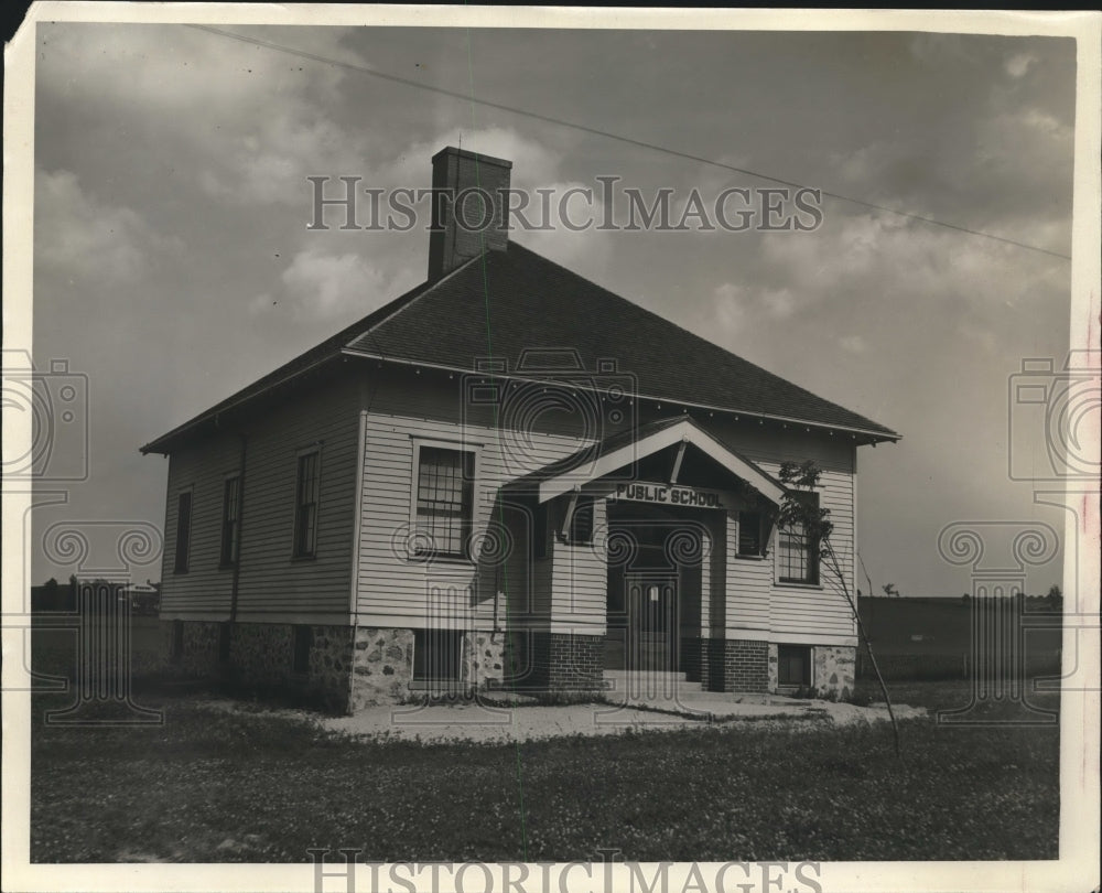
[[[857,611],[857,603],[850,593],[850,584],[842,570],[842,562],[839,560],[834,546],[831,542],[831,534],[834,525],[830,519],[830,509],[823,508],[817,502],[803,498],[804,494],[814,493],[822,477],[822,469],[818,463],[808,460],[797,464],[796,462],[784,462],[779,473],[780,482],[786,487],[786,493],[781,499],[780,512],[777,515],[777,524],[781,527],[802,526],[803,534],[810,541],[818,544],[820,569],[825,569],[833,580],[839,584],[842,594],[850,604],[853,618],[857,622],[857,630],[861,638],[865,642],[865,653],[868,655],[868,663],[876,674],[876,681],[880,686],[880,693],[888,708],[888,719],[892,720],[892,733],[895,736],[896,756],[899,752],[899,723],[896,722],[895,711],[892,708],[892,698],[888,695],[884,677],[880,675],[879,665],[876,663],[876,655],[873,654],[873,646],[865,632],[865,625],[861,622],[861,613]],[[884,587],[888,595],[896,594],[893,584]]]

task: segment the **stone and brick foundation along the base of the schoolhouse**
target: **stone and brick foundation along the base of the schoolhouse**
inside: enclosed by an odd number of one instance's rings
[[[158,638],[174,643],[173,621],[162,621]],[[223,632],[228,630],[228,653]],[[295,626],[281,623],[183,621],[182,650],[150,667],[175,675],[220,680],[235,687],[290,693],[331,710],[355,712],[369,704],[400,703],[411,697],[413,631],[360,626],[310,626],[309,660],[295,671]],[[525,635],[521,665],[507,682],[512,656],[504,633],[474,631],[463,637],[461,680],[466,689],[507,684],[523,690],[594,691],[604,688],[604,636],[568,633]],[[765,642],[685,638],[682,667],[707,691],[776,691],[777,646]],[[224,659],[225,658],[225,659]],[[820,697],[853,695],[856,648],[812,648],[812,682]],[[511,674],[510,674],[511,675]]]

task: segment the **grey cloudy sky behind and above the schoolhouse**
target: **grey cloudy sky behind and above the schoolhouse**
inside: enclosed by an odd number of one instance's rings
[[[309,175],[428,186],[431,155],[462,139],[511,159],[527,190],[603,174],[678,195],[769,185],[357,67],[1071,252],[1070,40],[231,30],[306,55],[184,25],[39,25],[34,356],[88,376],[90,477],[39,512],[36,535],[66,518],[160,526],[168,464],[142,443],[424,278],[420,229],[309,232]],[[515,237],[901,432],[861,451],[861,552],[877,589],[959,594],[970,577],[938,557],[946,525],[1063,529],[1008,478],[1007,388],[1025,357],[1062,363],[1071,265],[823,209],[813,233]],[[35,550],[35,580],[68,572]],[[1056,561],[1029,588],[1059,579]]]

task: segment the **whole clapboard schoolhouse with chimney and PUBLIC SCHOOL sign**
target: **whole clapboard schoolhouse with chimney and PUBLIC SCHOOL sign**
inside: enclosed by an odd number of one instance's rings
[[[823,469],[855,593],[857,449],[899,435],[510,240],[511,166],[439,152],[493,226],[434,201],[422,284],[142,448],[172,661],[348,711],[625,674],[846,697],[855,621],[777,473]]]

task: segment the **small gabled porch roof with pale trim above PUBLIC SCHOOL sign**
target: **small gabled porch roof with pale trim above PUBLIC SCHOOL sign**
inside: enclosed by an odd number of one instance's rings
[[[537,493],[538,501],[545,503],[678,443],[695,446],[754,486],[769,502],[780,504],[786,492],[784,484],[705,431],[689,416],[674,416],[613,434],[518,478],[514,485],[530,487]]]

